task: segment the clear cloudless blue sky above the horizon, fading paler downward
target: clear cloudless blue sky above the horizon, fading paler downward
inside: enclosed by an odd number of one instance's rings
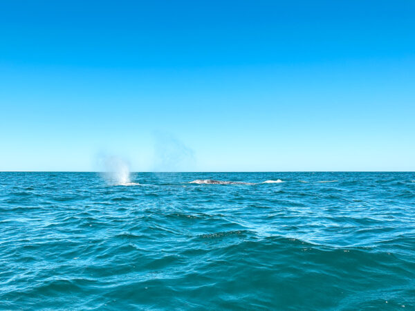
[[[415,1],[0,1],[0,170],[415,171]]]

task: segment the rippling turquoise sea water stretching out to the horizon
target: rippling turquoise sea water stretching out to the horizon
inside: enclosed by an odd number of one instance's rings
[[[415,173],[131,182],[0,173],[0,308],[415,308]]]

